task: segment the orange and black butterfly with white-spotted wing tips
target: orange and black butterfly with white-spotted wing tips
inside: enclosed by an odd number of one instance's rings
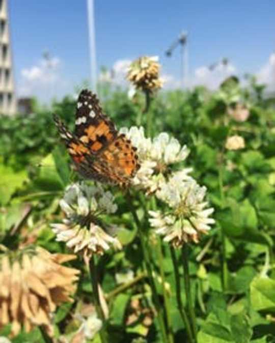
[[[140,168],[136,148],[105,116],[96,94],[85,89],[77,99],[75,129],[53,115],[78,173],[85,179],[128,187]]]

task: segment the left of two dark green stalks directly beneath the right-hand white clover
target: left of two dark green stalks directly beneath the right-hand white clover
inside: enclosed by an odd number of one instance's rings
[[[189,342],[192,343],[194,342],[193,333],[191,330],[191,325],[190,325],[187,313],[185,311],[185,308],[182,304],[182,299],[181,299],[180,274],[179,274],[179,267],[178,267],[178,262],[176,258],[176,252],[175,252],[175,249],[172,247],[170,248],[170,252],[171,252],[171,257],[173,261],[174,274],[175,274],[175,280],[176,280],[176,297],[177,297],[178,310],[180,312],[181,319],[185,325]]]

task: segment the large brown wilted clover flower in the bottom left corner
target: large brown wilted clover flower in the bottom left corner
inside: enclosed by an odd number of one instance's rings
[[[53,335],[51,313],[71,302],[79,271],[61,264],[75,255],[51,254],[40,247],[0,255],[0,328],[11,324],[11,334],[44,327]]]

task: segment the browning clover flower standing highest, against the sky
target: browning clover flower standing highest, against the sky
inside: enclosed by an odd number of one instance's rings
[[[157,56],[142,56],[131,63],[126,78],[136,89],[152,93],[162,88],[163,81],[159,78],[159,69]]]

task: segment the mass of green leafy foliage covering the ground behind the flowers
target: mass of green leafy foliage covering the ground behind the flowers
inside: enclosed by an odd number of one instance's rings
[[[143,94],[130,100],[122,90],[103,91],[104,112],[118,127],[146,125]],[[227,113],[228,106],[237,102],[249,107],[250,117],[245,122],[234,121]],[[32,238],[32,242],[50,251],[67,251],[64,244],[54,240],[49,223],[61,220],[58,202],[75,176],[65,148],[58,143],[51,112],[62,117],[72,129],[75,105],[75,100],[66,97],[54,103],[52,111],[39,109],[25,117],[0,117],[0,243],[8,248],[18,248]],[[192,175],[207,186],[208,200],[215,208],[214,228],[192,246],[188,256],[198,343],[275,341],[274,102],[264,98],[263,87],[254,80],[250,88],[242,89],[238,80],[231,78],[214,93],[202,87],[185,92],[160,92],[152,99],[150,115],[155,133],[167,131],[182,145],[187,144],[190,155],[186,165],[193,167]],[[234,134],[244,138],[244,149],[225,149],[227,137]],[[118,211],[112,221],[121,227],[118,237],[123,251],[107,253],[97,262],[100,283],[104,293],[109,295],[110,341],[142,341],[144,337],[160,343],[160,327],[155,308],[152,310],[155,303],[148,275],[142,275],[118,293],[113,292],[121,287],[116,281],[117,273],[131,270],[134,276],[141,275],[145,261],[139,230],[148,229],[133,224],[123,192],[117,191],[116,199]],[[31,208],[28,214],[26,206]],[[143,206],[136,209],[140,219],[146,217],[148,206],[143,198]],[[163,308],[161,266],[169,283],[174,341],[187,341],[186,327],[177,308],[170,250],[162,246],[160,266],[155,243],[147,244],[150,244],[157,297]],[[179,256],[177,261],[185,305]],[[62,305],[54,315],[57,336],[71,334],[73,313],[79,303],[91,303],[92,288],[87,270],[80,258],[72,265],[82,274],[75,303]],[[133,309],[133,299],[139,299],[138,310]],[[152,319],[148,327],[144,324],[147,317]],[[21,333],[12,341],[42,342],[43,338],[36,329],[30,334]],[[91,341],[99,341],[99,336]]]

